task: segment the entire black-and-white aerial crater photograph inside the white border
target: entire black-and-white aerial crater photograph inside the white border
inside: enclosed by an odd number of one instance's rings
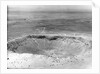
[[[7,6],[7,69],[91,68],[91,5]]]

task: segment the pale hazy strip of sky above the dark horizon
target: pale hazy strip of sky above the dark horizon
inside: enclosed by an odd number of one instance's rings
[[[10,5],[9,11],[36,11],[36,12],[91,12],[90,5]]]

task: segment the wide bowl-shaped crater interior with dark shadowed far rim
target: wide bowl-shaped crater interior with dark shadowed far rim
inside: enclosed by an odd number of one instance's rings
[[[50,57],[68,57],[91,49],[91,41],[81,37],[28,35],[7,43],[7,50],[14,53],[41,54]]]

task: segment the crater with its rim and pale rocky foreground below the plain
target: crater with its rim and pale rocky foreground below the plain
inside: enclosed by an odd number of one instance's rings
[[[87,68],[92,40],[63,35],[28,35],[9,41],[8,68]]]

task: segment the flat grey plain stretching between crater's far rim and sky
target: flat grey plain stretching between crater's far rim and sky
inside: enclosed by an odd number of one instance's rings
[[[92,33],[92,17],[89,12],[79,13],[8,13],[8,40],[23,35],[45,32]]]

